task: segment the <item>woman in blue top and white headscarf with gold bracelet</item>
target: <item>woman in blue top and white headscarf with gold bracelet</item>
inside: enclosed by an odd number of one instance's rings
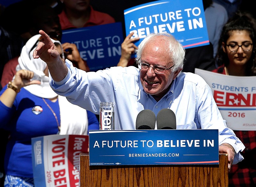
[[[40,35],[22,48],[12,81],[0,92],[0,128],[10,132],[4,186],[34,186],[31,138],[50,134],[88,134],[99,129],[96,115],[58,96],[49,86],[48,68],[33,59]],[[63,56],[61,43],[52,40]]]

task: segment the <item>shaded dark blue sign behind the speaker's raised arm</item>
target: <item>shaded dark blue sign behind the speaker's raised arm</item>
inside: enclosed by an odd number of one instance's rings
[[[63,31],[62,43],[74,43],[90,71],[116,66],[124,41],[121,22]]]

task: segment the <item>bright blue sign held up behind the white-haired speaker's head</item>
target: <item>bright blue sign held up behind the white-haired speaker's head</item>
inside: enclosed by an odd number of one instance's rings
[[[171,33],[186,48],[209,45],[202,0],[154,1],[124,10],[125,32],[140,42],[149,33]]]

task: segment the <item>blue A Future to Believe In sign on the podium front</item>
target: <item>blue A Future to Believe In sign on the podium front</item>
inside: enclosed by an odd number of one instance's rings
[[[90,165],[219,164],[218,130],[90,130]]]

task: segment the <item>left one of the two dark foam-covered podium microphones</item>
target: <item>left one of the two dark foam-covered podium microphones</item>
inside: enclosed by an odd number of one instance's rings
[[[136,119],[136,130],[155,129],[156,115],[153,111],[145,109],[140,111]]]

